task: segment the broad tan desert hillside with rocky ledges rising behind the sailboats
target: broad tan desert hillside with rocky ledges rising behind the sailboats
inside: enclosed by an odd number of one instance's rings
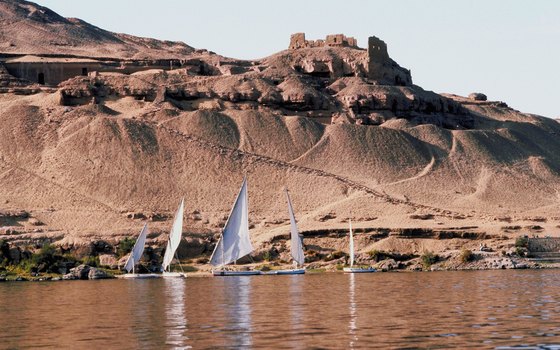
[[[21,1],[0,1],[0,21],[6,54],[184,55],[204,68],[40,86],[0,65],[8,239],[121,237],[144,219],[156,237],[182,197],[185,232],[215,234],[244,176],[259,244],[289,232],[284,187],[304,236],[349,217],[363,229],[559,231],[558,121],[425,90],[388,56],[324,45],[238,61]],[[375,244],[398,248],[390,242]]]

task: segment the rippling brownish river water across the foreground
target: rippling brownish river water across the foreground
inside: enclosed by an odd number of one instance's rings
[[[560,349],[560,270],[0,284],[0,348]]]

